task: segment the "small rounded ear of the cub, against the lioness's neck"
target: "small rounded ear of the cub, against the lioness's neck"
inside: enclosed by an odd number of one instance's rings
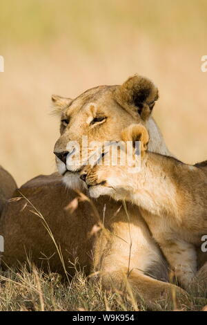
[[[129,127],[124,129],[121,133],[121,139],[124,141],[132,141],[133,147],[135,147],[135,141],[141,142],[141,156],[145,154],[148,149],[149,133],[141,124],[131,124]]]

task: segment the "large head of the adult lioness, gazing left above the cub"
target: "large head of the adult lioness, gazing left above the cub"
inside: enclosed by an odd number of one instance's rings
[[[146,125],[151,133],[152,151],[168,153],[157,125],[150,118],[157,99],[157,87],[139,75],[130,77],[121,86],[89,89],[75,100],[52,96],[55,110],[61,115],[61,136],[54,152],[64,183],[79,187],[79,171],[87,165],[94,141],[98,145],[107,140],[119,141],[121,131],[132,123]]]

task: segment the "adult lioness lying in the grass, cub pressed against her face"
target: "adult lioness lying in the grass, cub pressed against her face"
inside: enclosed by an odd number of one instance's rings
[[[57,167],[67,187],[77,189],[83,184],[79,179],[82,165],[72,166],[71,170],[67,165],[67,157],[70,156],[68,142],[76,140],[81,147],[82,136],[88,136],[88,142],[119,140],[125,127],[141,121],[150,132],[150,150],[170,155],[157,124],[150,116],[157,99],[158,91],[154,84],[139,76],[131,77],[121,86],[90,89],[75,100],[52,96],[55,109],[61,115],[61,136],[55,145]],[[84,155],[81,159],[87,160]],[[88,239],[88,233],[94,229],[97,220],[91,216],[93,211],[87,201],[80,202],[72,215],[63,210],[77,194],[61,184],[60,176],[41,176],[20,190],[45,217],[61,246],[68,272],[72,272],[71,265],[67,264],[68,259],[74,263],[78,257],[86,271],[91,272],[95,268],[100,272],[106,288],[115,286],[120,290],[124,277],[128,277],[132,290],[136,295],[144,297],[148,305],[156,299],[171,300],[173,289],[185,295],[180,288],[160,281],[166,279],[168,273],[166,261],[137,212],[137,207],[128,205],[132,235],[131,265],[134,268],[128,274],[128,220],[119,203],[109,198],[95,202],[99,215],[104,214],[104,225],[110,236],[100,230],[97,236]],[[15,196],[21,194],[17,192]],[[31,212],[34,207],[25,198],[6,205],[0,221],[0,232],[5,239],[3,260],[11,265],[17,260],[25,260],[26,253],[31,252],[35,263],[44,264],[49,259],[50,268],[60,270],[61,261],[55,246],[41,225],[42,220]]]

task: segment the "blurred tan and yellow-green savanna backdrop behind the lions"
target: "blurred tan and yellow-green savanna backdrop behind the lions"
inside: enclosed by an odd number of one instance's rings
[[[135,73],[159,87],[169,149],[207,159],[206,0],[7,0],[0,6],[0,165],[18,185],[55,171],[52,93],[76,97]]]

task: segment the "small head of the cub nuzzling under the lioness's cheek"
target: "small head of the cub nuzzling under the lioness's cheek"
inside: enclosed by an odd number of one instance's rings
[[[141,184],[141,165],[146,159],[148,131],[141,124],[132,124],[122,131],[121,138],[122,142],[116,148],[117,154],[116,151],[103,147],[97,162],[81,171],[80,178],[88,187],[90,196],[94,198],[110,195],[115,200],[129,200],[135,182]],[[110,148],[113,145],[112,143]]]

